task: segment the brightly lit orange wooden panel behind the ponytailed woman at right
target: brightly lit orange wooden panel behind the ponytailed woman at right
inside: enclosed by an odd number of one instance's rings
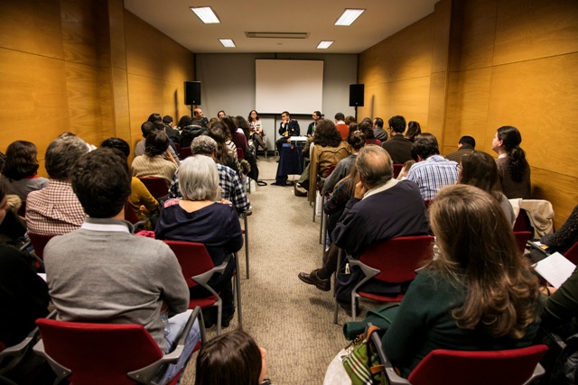
[[[577,68],[578,53],[494,67],[488,112],[490,132],[517,126],[530,165],[574,178]]]

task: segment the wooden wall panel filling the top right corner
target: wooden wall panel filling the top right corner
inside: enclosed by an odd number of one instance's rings
[[[493,64],[578,50],[576,0],[499,1]]]

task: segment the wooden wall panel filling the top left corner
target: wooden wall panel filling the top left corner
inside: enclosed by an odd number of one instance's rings
[[[0,14],[0,47],[63,58],[60,0],[3,0]]]

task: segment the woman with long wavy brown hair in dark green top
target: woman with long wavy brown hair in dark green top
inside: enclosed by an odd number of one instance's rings
[[[406,377],[434,349],[503,350],[529,346],[540,293],[508,218],[480,188],[443,188],[429,208],[437,258],[407,290],[384,349]]]

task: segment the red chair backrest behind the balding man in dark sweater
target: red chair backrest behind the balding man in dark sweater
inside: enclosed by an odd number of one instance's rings
[[[433,258],[433,236],[402,236],[370,245],[359,261],[378,269],[374,278],[385,282],[415,279],[415,269]]]

